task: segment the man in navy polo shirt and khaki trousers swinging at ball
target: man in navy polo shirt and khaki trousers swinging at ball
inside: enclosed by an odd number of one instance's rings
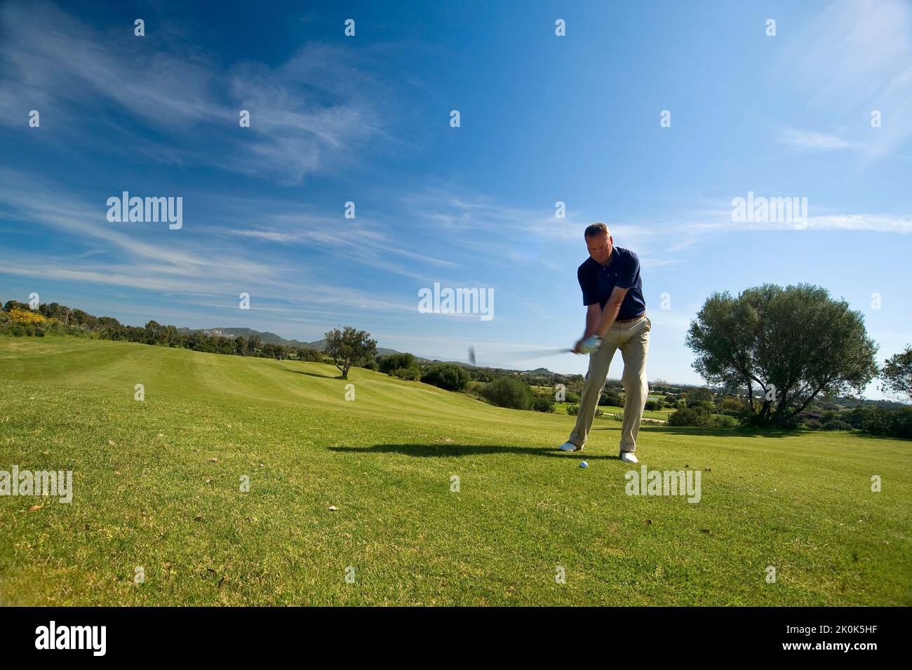
[[[639,278],[637,254],[614,245],[604,223],[586,228],[589,258],[579,266],[576,278],[586,305],[586,333],[573,348],[575,354],[589,354],[589,371],[583,383],[576,426],[559,448],[579,451],[586,444],[598,399],[605,389],[608,366],[617,349],[624,358],[624,424],[621,429],[620,459],[636,463],[639,420],[648,397],[646,355],[652,323],[646,315],[643,285]]]

